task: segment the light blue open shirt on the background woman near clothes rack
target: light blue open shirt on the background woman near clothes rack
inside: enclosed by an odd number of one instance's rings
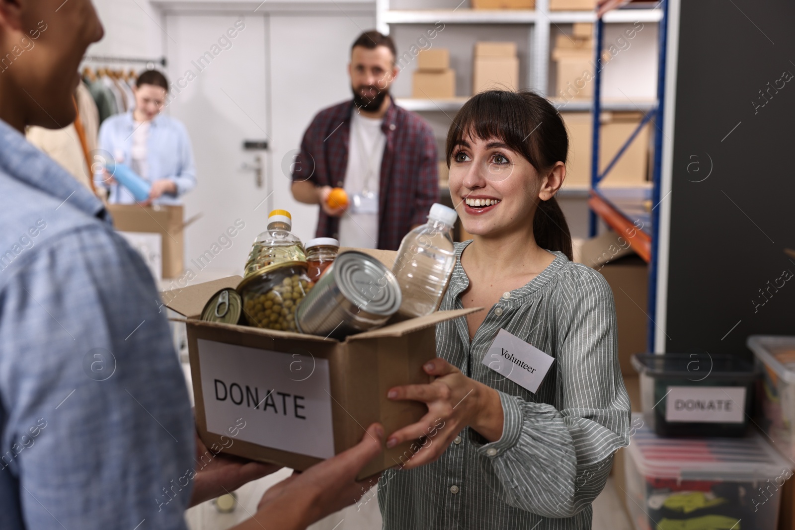
[[[130,150],[133,145],[135,121],[133,112],[116,114],[107,118],[99,128],[99,149],[107,152],[99,156],[99,162],[109,154],[113,161],[130,164]],[[180,197],[196,188],[196,164],[193,162],[193,149],[188,131],[176,119],[157,114],[149,126],[149,137],[146,141],[146,161],[148,162],[147,180],[168,179],[176,184],[176,195],[161,195],[154,200],[155,204],[181,204]],[[95,157],[96,160],[96,157]],[[135,202],[133,195],[118,184],[105,184],[101,173],[95,174],[95,182],[99,186],[110,188],[111,204]]]

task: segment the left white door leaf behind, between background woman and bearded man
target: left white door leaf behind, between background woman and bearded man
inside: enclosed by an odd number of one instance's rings
[[[266,228],[273,199],[269,154],[243,149],[244,141],[271,136],[266,28],[265,16],[165,19],[173,86],[166,111],[188,129],[196,158],[196,189],[184,198],[185,219],[201,215],[185,230],[191,283],[242,274],[251,242]],[[251,169],[257,157],[260,182]]]

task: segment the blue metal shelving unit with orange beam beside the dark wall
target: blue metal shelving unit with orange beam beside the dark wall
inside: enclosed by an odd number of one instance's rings
[[[601,0],[595,22],[595,60],[601,64],[600,56],[603,48],[605,18],[612,13],[613,7],[620,0]],[[668,24],[668,0],[661,0],[657,5],[659,11],[659,64],[657,69],[657,100],[650,110],[644,110],[644,118],[630,137],[619,149],[618,153],[607,164],[603,171],[599,169],[599,141],[600,124],[599,115],[607,106],[601,100],[602,72],[597,68],[594,76],[594,100],[591,105],[593,113],[593,147],[591,149],[591,190],[588,206],[591,207],[589,219],[589,232],[591,237],[596,235],[597,218],[610,226],[613,230],[626,238],[630,246],[649,264],[649,303],[647,315],[648,331],[647,345],[649,351],[654,351],[654,321],[657,308],[657,234],[659,231],[659,206],[661,202],[661,164],[662,141],[665,134],[662,131],[663,103],[665,101],[665,60],[666,38]],[[647,123],[652,123],[654,130],[654,160],[650,188],[603,188],[599,184],[607,173],[619,161],[623,153],[630,146],[638,133]],[[646,204],[650,207],[647,209]]]

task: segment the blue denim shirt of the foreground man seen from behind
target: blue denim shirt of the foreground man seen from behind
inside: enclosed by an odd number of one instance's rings
[[[0,528],[183,530],[195,427],[154,281],[2,121],[0,226]]]

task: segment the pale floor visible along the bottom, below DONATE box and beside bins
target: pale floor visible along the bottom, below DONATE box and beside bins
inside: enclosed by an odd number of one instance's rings
[[[289,476],[289,470],[281,470],[277,474],[251,482],[238,489],[238,505],[232,513],[218,513],[211,502],[189,509],[185,514],[188,528],[191,530],[226,530],[245,520],[257,509],[262,493],[272,484]],[[367,501],[370,497],[370,501]],[[378,501],[374,492],[363,497],[358,506],[349,506],[341,512],[328,516],[309,527],[310,530],[377,530],[381,528],[381,514],[378,512]],[[619,497],[615,493],[612,478],[602,494],[594,501],[593,530],[632,530],[629,520]]]

